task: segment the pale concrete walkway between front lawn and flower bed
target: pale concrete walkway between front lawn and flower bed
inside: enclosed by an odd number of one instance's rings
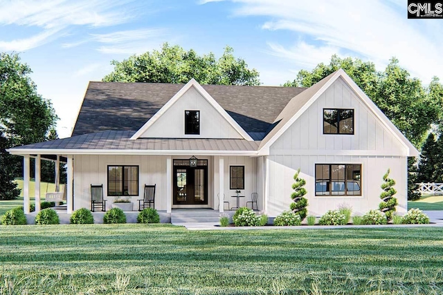
[[[302,225],[299,227],[217,227],[219,222],[174,223],[190,230],[252,230],[252,229],[350,229],[380,227],[443,227],[443,211],[424,211],[429,216],[429,225]]]

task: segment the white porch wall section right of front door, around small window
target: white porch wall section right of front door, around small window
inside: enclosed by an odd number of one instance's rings
[[[215,196],[214,207],[213,209],[218,209],[218,199],[217,193],[219,192],[219,156],[214,156],[214,175],[213,175],[213,196]],[[229,156],[222,157],[224,159],[224,200],[229,202],[230,207],[237,206],[237,198],[232,198],[232,196],[236,196],[235,189],[230,189],[229,186],[229,172],[230,166],[244,166],[244,189],[241,189],[242,193],[240,196],[244,196],[244,198],[240,198],[240,207],[245,207],[246,202],[251,200],[251,193],[258,193],[259,187],[257,182],[257,158],[243,157],[243,156]],[[261,197],[259,195],[258,200],[258,208],[262,209]],[[249,204],[251,206],[251,204]],[[227,208],[227,205],[226,205]]]

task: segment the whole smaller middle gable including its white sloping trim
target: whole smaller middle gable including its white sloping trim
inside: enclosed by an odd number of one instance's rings
[[[198,134],[185,132],[185,113],[188,111],[199,113]],[[132,139],[139,137],[252,140],[251,136],[194,79],[183,86],[132,136]]]

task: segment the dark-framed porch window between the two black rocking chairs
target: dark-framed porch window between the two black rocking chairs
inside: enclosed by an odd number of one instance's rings
[[[108,166],[108,196],[138,196],[138,166]]]

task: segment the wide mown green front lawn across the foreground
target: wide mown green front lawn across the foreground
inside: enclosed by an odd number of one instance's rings
[[[442,294],[443,228],[0,227],[0,294]]]

